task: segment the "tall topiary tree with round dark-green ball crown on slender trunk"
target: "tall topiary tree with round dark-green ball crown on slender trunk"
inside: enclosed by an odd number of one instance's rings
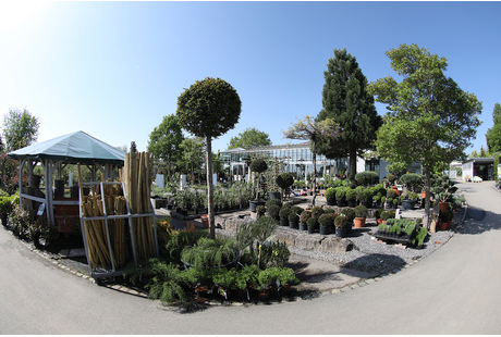
[[[212,138],[232,129],[239,122],[242,102],[236,90],[221,78],[197,80],[178,97],[180,125],[197,137],[206,138],[209,237],[216,237],[213,222]]]

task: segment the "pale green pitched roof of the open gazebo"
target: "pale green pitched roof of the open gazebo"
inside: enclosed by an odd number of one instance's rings
[[[60,160],[68,163],[122,164],[125,152],[84,132],[40,141],[7,154],[12,159]]]

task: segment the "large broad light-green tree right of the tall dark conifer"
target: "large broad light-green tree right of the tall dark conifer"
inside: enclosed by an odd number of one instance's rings
[[[481,101],[443,74],[445,58],[416,45],[401,45],[386,54],[403,80],[399,84],[388,76],[368,86],[377,101],[388,104],[377,133],[377,151],[390,163],[421,163],[428,214],[433,166],[465,158],[464,150],[481,123]]]

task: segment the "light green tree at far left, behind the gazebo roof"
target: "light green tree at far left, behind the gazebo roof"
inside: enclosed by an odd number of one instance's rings
[[[9,113],[3,116],[5,152],[12,152],[36,142],[39,127],[38,118],[32,115],[26,108],[23,111],[17,108],[9,109]]]

